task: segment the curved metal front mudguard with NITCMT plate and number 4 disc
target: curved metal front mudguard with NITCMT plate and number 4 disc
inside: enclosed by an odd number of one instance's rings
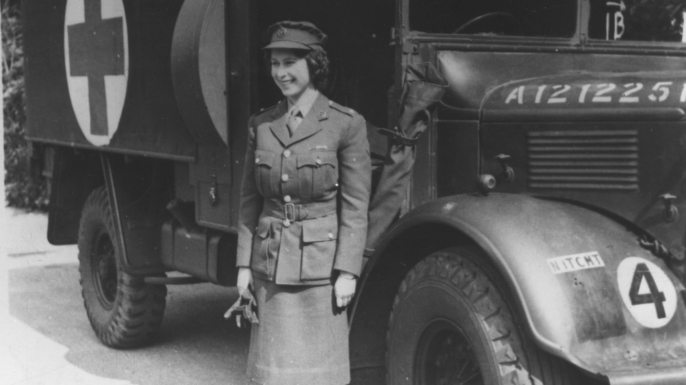
[[[376,255],[427,223],[451,226],[485,251],[545,351],[611,384],[686,380],[684,287],[623,224],[532,196],[451,196],[404,216]]]

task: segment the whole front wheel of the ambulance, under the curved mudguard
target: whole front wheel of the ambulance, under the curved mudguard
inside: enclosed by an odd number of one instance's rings
[[[449,248],[410,270],[389,322],[388,385],[583,383],[528,340],[485,260],[470,248]]]

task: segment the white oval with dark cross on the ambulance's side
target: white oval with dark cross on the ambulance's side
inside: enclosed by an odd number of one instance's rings
[[[108,145],[119,127],[129,78],[122,0],[67,0],[64,61],[81,131],[91,144]]]

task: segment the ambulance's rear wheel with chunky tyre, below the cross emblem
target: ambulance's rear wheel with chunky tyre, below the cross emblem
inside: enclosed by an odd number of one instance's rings
[[[159,330],[167,288],[122,270],[114,219],[104,188],[84,204],[79,224],[79,273],[88,320],[105,345],[132,348]]]

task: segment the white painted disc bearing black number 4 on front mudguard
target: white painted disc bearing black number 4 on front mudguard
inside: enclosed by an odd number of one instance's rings
[[[617,283],[624,305],[639,324],[656,329],[671,321],[676,288],[659,266],[644,258],[626,258],[617,268]]]

